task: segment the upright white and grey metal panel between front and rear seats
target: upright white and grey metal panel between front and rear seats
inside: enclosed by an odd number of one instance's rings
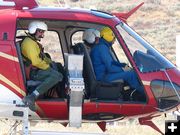
[[[82,122],[82,102],[84,79],[83,55],[65,54],[65,64],[68,67],[69,81],[69,125],[70,127],[80,127]]]

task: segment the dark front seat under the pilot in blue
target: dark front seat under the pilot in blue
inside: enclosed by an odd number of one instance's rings
[[[121,91],[124,87],[124,81],[105,83],[96,80],[89,51],[84,43],[78,43],[73,46],[75,54],[84,54],[83,77],[85,81],[85,92],[88,98],[97,100],[119,100],[122,98]]]

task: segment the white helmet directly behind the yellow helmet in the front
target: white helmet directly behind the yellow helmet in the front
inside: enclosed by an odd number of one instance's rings
[[[96,29],[87,29],[83,33],[83,40],[89,44],[93,44],[96,40],[96,37],[100,38],[100,32]]]

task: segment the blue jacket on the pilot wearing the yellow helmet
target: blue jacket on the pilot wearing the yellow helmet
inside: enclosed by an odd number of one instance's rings
[[[125,64],[114,60],[110,51],[111,46],[112,43],[101,38],[99,43],[91,49],[90,57],[97,80],[102,81],[106,75],[111,73],[123,72],[122,67]]]

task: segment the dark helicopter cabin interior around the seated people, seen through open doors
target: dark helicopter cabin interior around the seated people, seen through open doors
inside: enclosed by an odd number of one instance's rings
[[[32,19],[18,19],[16,31],[16,49],[20,61],[24,85],[27,92],[34,89],[39,83],[38,81],[30,80],[28,77],[29,71],[25,68],[21,55],[20,44],[26,36],[27,28]],[[83,43],[83,31],[88,28],[101,30],[104,25],[89,22],[76,21],[60,21],[60,20],[41,20],[48,26],[48,31],[45,32],[45,37],[41,40],[44,51],[49,53],[51,59],[62,64],[65,76],[65,84],[61,87],[60,93],[56,92],[56,88],[52,88],[40,99],[65,99],[68,97],[68,71],[66,65],[65,54],[83,55],[83,79],[84,79],[84,99],[92,101],[107,101],[107,102],[137,102],[144,103],[138,95],[133,95],[133,90],[123,80],[114,83],[104,83],[96,80],[91,59],[89,56],[90,47]],[[126,54],[124,53],[120,43],[116,39],[112,52],[117,61],[127,63],[133,70]]]

